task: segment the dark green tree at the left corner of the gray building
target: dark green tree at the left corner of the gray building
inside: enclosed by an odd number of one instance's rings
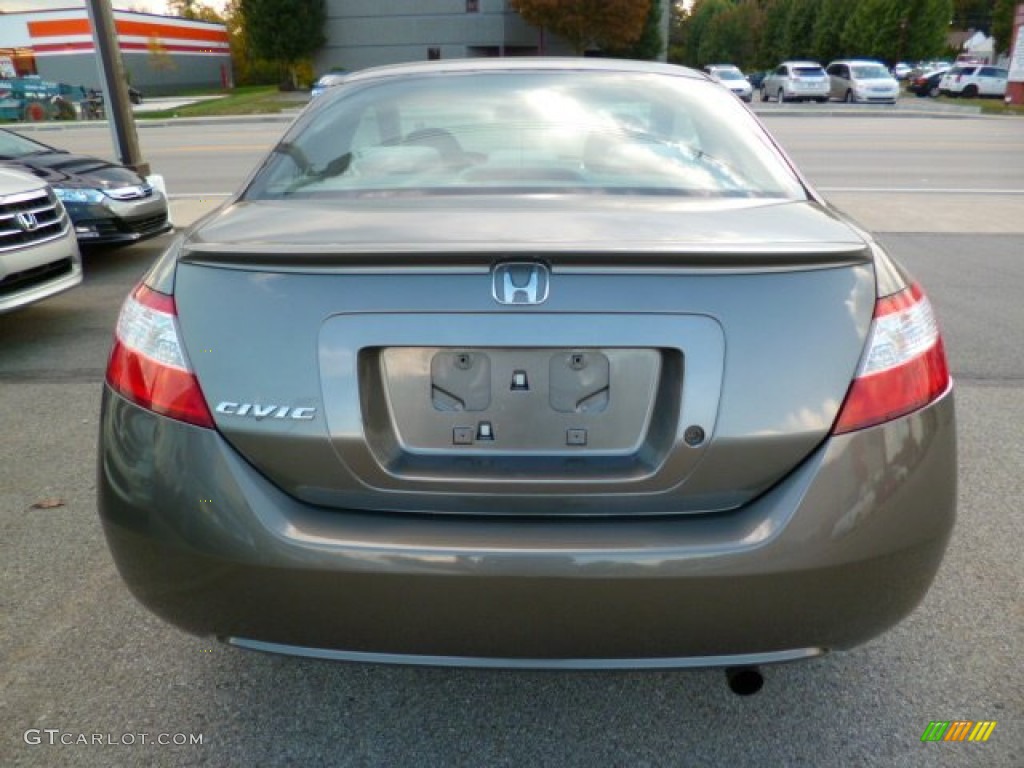
[[[241,0],[239,7],[253,57],[276,61],[297,88],[300,67],[327,41],[324,0]]]

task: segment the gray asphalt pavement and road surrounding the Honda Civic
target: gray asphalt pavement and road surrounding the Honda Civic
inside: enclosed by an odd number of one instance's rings
[[[765,119],[923,282],[946,337],[959,521],[906,622],[853,651],[767,669],[753,697],[731,694],[715,670],[331,664],[165,626],[114,569],[93,478],[111,329],[165,238],[90,254],[82,288],[0,317],[0,765],[1024,765],[1024,123]],[[178,124],[141,136],[191,216],[283,128]],[[95,127],[34,135],[111,155]],[[930,721],[957,719],[997,726],[984,744],[922,743]],[[162,734],[202,743],[156,743]]]

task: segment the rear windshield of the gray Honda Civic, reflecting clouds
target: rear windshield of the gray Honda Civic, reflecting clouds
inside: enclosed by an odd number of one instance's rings
[[[806,197],[757,120],[711,82],[502,71],[337,86],[245,198],[549,190]]]

